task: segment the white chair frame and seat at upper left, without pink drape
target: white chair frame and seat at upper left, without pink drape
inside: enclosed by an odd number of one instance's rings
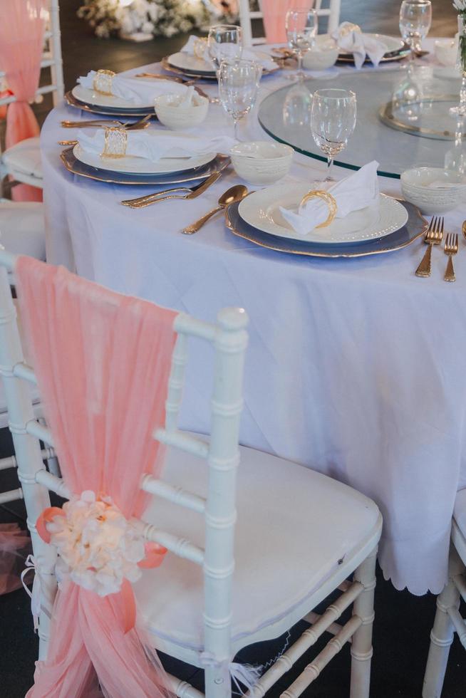
[[[41,62],[44,84],[36,90],[36,100],[51,94],[53,105],[63,99],[63,66],[61,59],[61,32],[58,0],[49,0],[49,19],[44,34],[44,51]],[[1,71],[0,79],[5,73]],[[0,98],[0,106],[11,104],[14,95]],[[3,152],[0,158],[0,175],[11,175],[16,182],[42,188],[42,167],[39,139],[26,138]]]

